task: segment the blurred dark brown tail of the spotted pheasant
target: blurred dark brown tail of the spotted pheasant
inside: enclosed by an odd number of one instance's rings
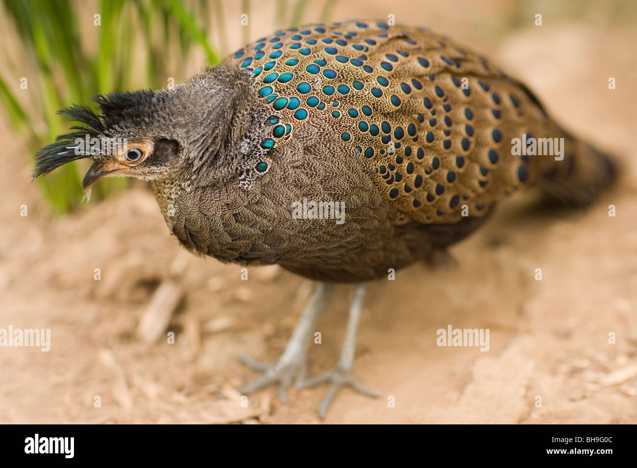
[[[566,138],[563,160],[543,167],[536,185],[547,199],[567,206],[587,206],[613,180],[617,163],[581,140]]]

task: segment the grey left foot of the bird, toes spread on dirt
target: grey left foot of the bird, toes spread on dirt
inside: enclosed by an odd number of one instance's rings
[[[307,375],[307,359],[304,353],[297,353],[294,357],[287,357],[285,353],[275,362],[257,361],[245,354],[240,355],[240,360],[256,372],[262,372],[260,377],[237,388],[242,395],[251,394],[265,386],[279,384],[278,397],[287,404],[287,389],[292,382],[304,379]]]

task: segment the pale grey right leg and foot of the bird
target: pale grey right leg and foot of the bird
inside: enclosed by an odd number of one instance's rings
[[[354,301],[352,301],[350,318],[347,322],[347,333],[345,334],[343,349],[341,350],[341,355],[338,358],[336,366],[316,377],[300,381],[296,385],[297,388],[307,388],[324,382],[331,383],[329,390],[327,390],[327,394],[318,406],[318,415],[322,419],[325,418],[329,405],[342,386],[351,386],[357,392],[361,392],[369,397],[380,397],[380,393],[361,385],[352,371],[354,367],[354,351],[356,349],[356,334],[358,331],[359,320],[361,318],[362,301],[364,297],[365,285],[364,283],[359,283],[356,285],[356,290],[354,292]]]

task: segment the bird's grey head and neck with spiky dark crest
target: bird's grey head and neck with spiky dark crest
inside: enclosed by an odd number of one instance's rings
[[[84,188],[103,176],[157,180],[199,169],[245,131],[233,124],[249,80],[234,73],[217,67],[173,89],[113,91],[92,98],[97,113],[82,104],[59,111],[81,125],[38,151],[34,178],[87,158],[93,164]]]

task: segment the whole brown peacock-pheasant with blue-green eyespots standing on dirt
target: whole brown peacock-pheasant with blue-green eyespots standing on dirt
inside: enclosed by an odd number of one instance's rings
[[[435,266],[520,190],[584,207],[617,172],[480,53],[377,20],[280,29],[172,89],[92,99],[99,111],[60,111],[80,125],[39,150],[34,178],[89,158],[83,187],[150,181],[190,252],[314,280],[280,357],[241,357],[261,376],[238,390],[278,385],[285,403],[292,385],[327,383],[322,418],[343,386],[380,395],[354,374],[369,281]],[[89,150],[85,136],[125,145]],[[354,285],[342,352],[308,378],[306,344],[336,283]]]

